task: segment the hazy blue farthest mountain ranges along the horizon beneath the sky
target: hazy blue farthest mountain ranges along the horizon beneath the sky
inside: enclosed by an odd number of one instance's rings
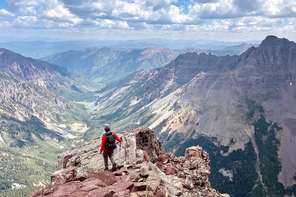
[[[19,38],[20,39],[20,38]],[[35,40],[34,40],[35,39]],[[6,42],[7,40],[11,40]],[[6,48],[26,57],[41,58],[69,50],[82,50],[88,47],[108,48],[170,48],[180,51],[185,48],[200,48],[207,50],[222,50],[229,46],[242,43],[258,44],[259,40],[244,42],[223,42],[218,40],[168,40],[168,39],[142,39],[142,40],[57,40],[48,38],[0,38],[0,48]],[[241,51],[241,50],[238,50]],[[225,53],[224,53],[225,54]],[[231,54],[229,54],[231,55]]]

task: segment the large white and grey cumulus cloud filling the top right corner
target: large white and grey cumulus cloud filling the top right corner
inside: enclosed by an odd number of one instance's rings
[[[227,19],[244,16],[296,17],[294,0],[219,0],[189,6],[191,14],[202,19]]]

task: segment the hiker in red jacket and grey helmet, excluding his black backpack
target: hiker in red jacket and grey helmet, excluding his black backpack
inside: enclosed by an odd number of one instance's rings
[[[103,134],[102,137],[102,146],[101,146],[101,150],[100,153],[103,154],[103,158],[104,158],[104,165],[105,165],[105,171],[109,170],[109,166],[108,166],[108,157],[110,158],[110,161],[113,165],[116,165],[115,160],[113,158],[113,154],[114,154],[114,149],[110,150],[107,149],[107,144],[108,144],[108,140],[107,137],[109,135],[114,135],[115,139],[119,142],[121,142],[121,139],[116,135],[115,132],[110,131],[110,125],[109,124],[105,124],[104,125],[104,130],[106,131],[106,133]]]

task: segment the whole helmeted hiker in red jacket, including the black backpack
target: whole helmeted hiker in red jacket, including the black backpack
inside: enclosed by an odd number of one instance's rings
[[[112,170],[115,171],[114,169],[117,168],[117,164],[115,163],[115,160],[113,158],[114,149],[116,148],[115,139],[121,142],[122,138],[120,139],[115,132],[110,131],[109,124],[104,125],[104,130],[106,131],[106,133],[103,134],[102,146],[100,150],[100,153],[103,154],[103,158],[104,158],[104,164],[105,164],[104,170],[105,171],[109,170],[108,168],[108,157],[109,157],[112,163]]]

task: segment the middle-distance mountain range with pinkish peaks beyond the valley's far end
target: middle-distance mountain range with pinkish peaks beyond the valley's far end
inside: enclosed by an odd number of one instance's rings
[[[252,44],[242,43],[231,49],[203,50],[188,48],[173,51],[168,48],[116,49],[89,47],[83,50],[71,50],[40,58],[53,64],[65,66],[97,82],[108,83],[122,79],[134,71],[156,69],[168,64],[178,55],[187,52],[211,53],[217,56],[239,55]],[[258,45],[255,45],[258,46]]]

